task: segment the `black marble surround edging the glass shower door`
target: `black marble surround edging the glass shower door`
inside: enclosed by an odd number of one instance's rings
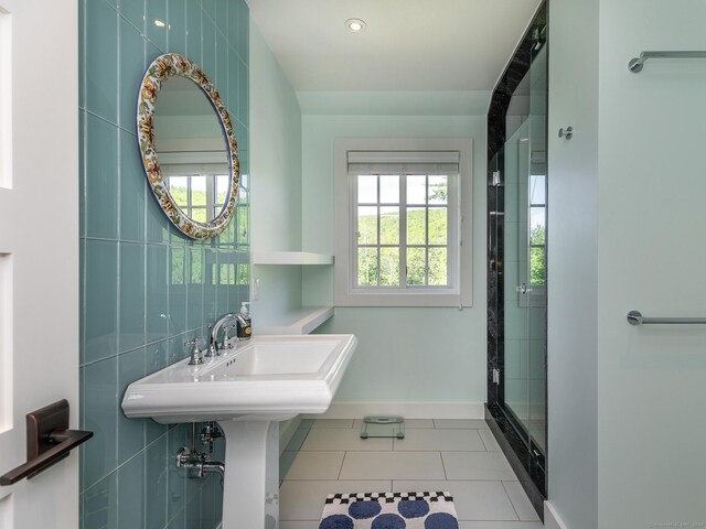
[[[546,499],[545,462],[530,453],[527,445],[504,413],[504,182],[493,173],[504,168],[507,109],[517,86],[530,71],[533,46],[546,40],[546,2],[538,9],[507,69],[499,82],[488,115],[488,403],[485,417],[535,509],[543,516]],[[500,370],[499,382],[493,371]]]

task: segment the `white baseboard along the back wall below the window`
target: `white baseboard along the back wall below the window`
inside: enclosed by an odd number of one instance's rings
[[[333,402],[325,413],[306,419],[362,419],[402,415],[405,419],[483,419],[482,402]]]

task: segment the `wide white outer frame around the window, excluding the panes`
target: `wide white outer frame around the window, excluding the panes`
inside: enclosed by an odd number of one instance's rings
[[[386,156],[389,152],[405,153],[399,162],[414,162],[425,152],[458,152],[457,224],[449,226],[449,287],[373,287],[361,288],[356,283],[354,253],[355,216],[353,201],[355,188],[349,175],[349,153],[376,152]],[[408,154],[408,155],[407,155]],[[336,306],[472,306],[472,212],[473,203],[473,140],[451,139],[347,139],[335,140],[335,305]],[[450,192],[450,197],[452,193]],[[454,207],[449,204],[449,207]],[[400,204],[400,207],[405,207]],[[403,209],[400,209],[400,217]],[[453,240],[454,237],[458,240]],[[454,247],[454,248],[452,248]],[[456,255],[453,255],[456,253]],[[452,260],[452,262],[451,262]]]

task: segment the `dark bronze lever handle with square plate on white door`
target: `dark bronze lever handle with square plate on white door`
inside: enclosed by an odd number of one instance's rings
[[[0,485],[12,485],[68,456],[68,452],[93,438],[93,432],[68,430],[68,402],[60,400],[26,415],[28,461],[0,476]]]

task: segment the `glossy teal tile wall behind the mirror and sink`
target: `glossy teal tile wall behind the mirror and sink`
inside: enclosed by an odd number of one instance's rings
[[[81,398],[83,529],[213,529],[217,476],[186,479],[174,455],[188,425],[127,419],[127,386],[186,356],[183,343],[248,296],[248,193],[238,223],[196,242],[172,228],[142,172],[135,111],[164,52],[201,64],[226,100],[248,173],[245,0],[81,0]],[[165,22],[164,28],[153,21]],[[223,441],[214,458],[224,457]]]

